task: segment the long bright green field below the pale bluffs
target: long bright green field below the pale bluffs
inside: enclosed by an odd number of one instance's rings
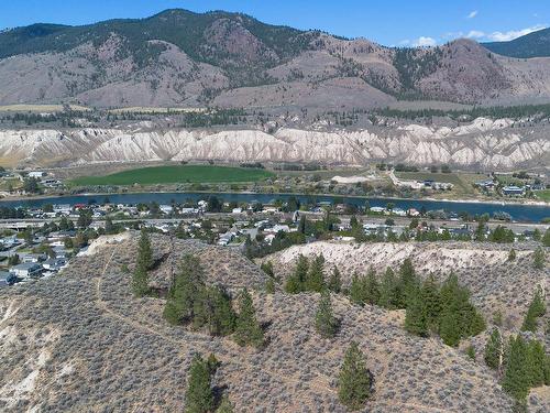
[[[275,176],[273,172],[248,167],[184,165],[153,166],[118,172],[106,176],[82,176],[70,183],[87,185],[154,185],[176,183],[256,182]]]

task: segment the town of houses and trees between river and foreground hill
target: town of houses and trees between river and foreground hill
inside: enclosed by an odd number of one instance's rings
[[[469,216],[444,210],[300,205],[290,197],[272,205],[224,203],[216,196],[184,204],[44,204],[0,207],[0,286],[31,282],[63,271],[102,235],[145,228],[180,239],[239,249],[264,257],[317,240],[406,242],[479,240],[498,243],[550,239],[547,224],[515,222],[506,213]],[[548,240],[546,241],[548,242]]]

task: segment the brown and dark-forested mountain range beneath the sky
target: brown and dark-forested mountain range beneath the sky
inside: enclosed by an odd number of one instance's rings
[[[372,108],[550,98],[548,30],[507,43],[385,47],[249,15],[166,10],[0,33],[0,105]],[[529,58],[526,58],[529,57]]]

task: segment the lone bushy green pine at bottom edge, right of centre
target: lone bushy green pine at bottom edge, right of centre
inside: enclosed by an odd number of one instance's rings
[[[372,374],[355,341],[345,352],[338,380],[338,398],[351,411],[362,409],[372,393]]]

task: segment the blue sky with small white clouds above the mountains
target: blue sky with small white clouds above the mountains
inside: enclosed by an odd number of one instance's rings
[[[266,23],[384,45],[432,45],[461,36],[505,41],[550,25],[548,0],[0,0],[0,29],[143,18],[168,8],[240,11]]]

